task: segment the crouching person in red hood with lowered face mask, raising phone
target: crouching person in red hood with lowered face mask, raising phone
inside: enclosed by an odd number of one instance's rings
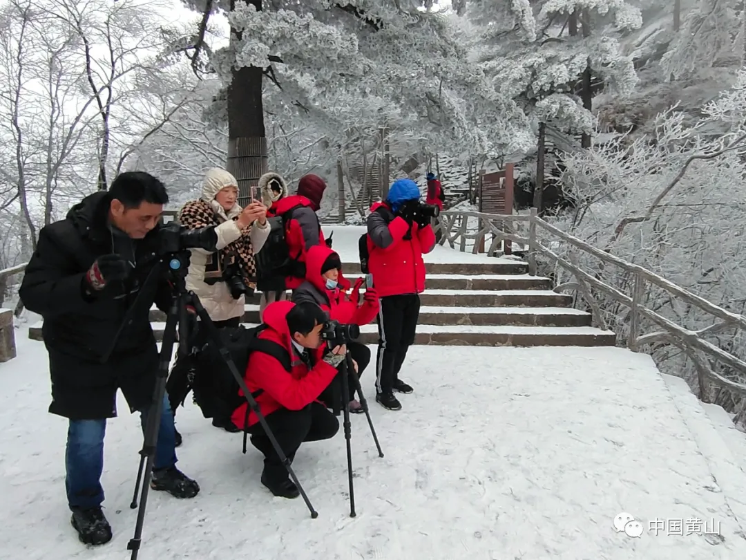
[[[360,305],[360,287],[363,279],[355,284],[351,295],[347,291],[350,282],[342,275],[342,261],[339,255],[325,245],[316,245],[308,249],[306,255],[306,281],[292,293],[295,303],[312,302],[327,312],[330,319],[344,324],[367,325],[378,314],[379,302],[376,290],[368,288],[363,295],[363,305]],[[362,375],[371,361],[371,351],[365,344],[351,342],[347,345],[352,357],[357,375]],[[360,402],[354,398],[355,385],[349,379],[349,410],[359,414],[363,412]],[[320,396],[322,402],[330,405],[335,398],[336,385],[330,385]],[[339,400],[339,396],[336,399]],[[330,406],[330,408],[333,408]]]

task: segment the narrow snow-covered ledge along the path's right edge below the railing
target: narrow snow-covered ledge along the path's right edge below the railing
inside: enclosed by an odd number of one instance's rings
[[[683,423],[692,434],[692,440],[709,466],[712,477],[709,490],[722,494],[727,505],[727,511],[718,511],[720,517],[715,519],[721,520],[723,525],[729,523],[731,526],[738,526],[743,538],[746,534],[746,473],[742,470],[742,464],[739,464],[739,458],[734,457],[721,438],[723,432],[715,428],[686,381],[665,373],[661,373],[661,377]],[[675,470],[673,465],[671,468]]]

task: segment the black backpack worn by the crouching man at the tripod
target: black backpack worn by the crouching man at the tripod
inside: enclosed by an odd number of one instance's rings
[[[248,365],[248,358],[252,352],[263,352],[276,358],[285,370],[290,373],[290,354],[283,346],[272,340],[262,340],[258,337],[266,325],[255,326],[251,329],[245,326],[219,329],[222,346],[228,351],[236,370],[243,378]],[[192,383],[194,399],[205,418],[229,418],[244,400],[239,395],[240,385],[228,369],[222,357],[221,348],[212,340],[208,341],[197,354],[195,378]],[[254,399],[260,396],[262,389],[254,391]],[[247,408],[247,414],[248,414]]]

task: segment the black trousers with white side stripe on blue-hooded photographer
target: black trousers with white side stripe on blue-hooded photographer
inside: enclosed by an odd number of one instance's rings
[[[378,354],[375,387],[378,393],[393,391],[407,350],[415,342],[419,319],[419,294],[385,296],[378,312]]]

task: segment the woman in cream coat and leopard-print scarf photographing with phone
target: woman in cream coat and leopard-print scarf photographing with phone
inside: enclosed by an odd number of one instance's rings
[[[269,235],[266,207],[252,201],[246,208],[237,204],[238,181],[225,169],[209,169],[204,176],[200,199],[187,202],[178,214],[181,225],[190,229],[217,225],[216,252],[190,249],[186,289],[194,292],[218,328],[235,327],[245,311],[245,294],[256,286],[254,253],[259,252]],[[197,329],[197,337],[204,337]],[[197,343],[197,341],[195,341]],[[174,414],[189,393],[195,365],[178,357],[166,390]],[[213,426],[238,432],[230,418],[213,418]],[[181,444],[181,435],[176,436]]]

